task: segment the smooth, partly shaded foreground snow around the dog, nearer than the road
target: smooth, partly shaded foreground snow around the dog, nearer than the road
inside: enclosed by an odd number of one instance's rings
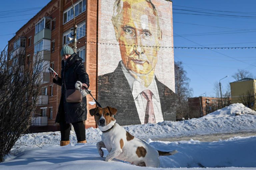
[[[149,139],[148,141],[150,142],[151,140]],[[205,169],[203,167],[215,167],[214,170],[244,170],[246,169],[244,167],[256,167],[255,143],[256,136],[234,137],[218,142],[200,142],[193,139],[177,142],[151,141],[149,144],[157,150],[178,150],[178,153],[175,155],[160,157],[161,168],[138,167],[117,159],[114,159],[113,162],[105,162],[104,160],[108,152],[103,148],[104,157],[100,157],[97,152],[96,143],[79,143],[75,146],[67,145],[63,147],[56,145],[44,146],[42,148],[24,147],[13,151],[16,156],[8,155],[6,161],[0,163],[0,169],[153,170],[174,168],[177,170],[187,170],[187,168],[191,168],[192,170]],[[212,170],[213,168],[206,169]]]

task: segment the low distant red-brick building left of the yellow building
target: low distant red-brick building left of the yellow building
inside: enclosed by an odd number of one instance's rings
[[[230,98],[227,104],[230,105]],[[221,99],[212,97],[194,97],[188,99],[189,118],[200,118],[221,108]]]

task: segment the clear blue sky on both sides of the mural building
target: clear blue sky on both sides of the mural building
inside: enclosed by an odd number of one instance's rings
[[[0,50],[30,18],[50,0],[9,0],[1,3]],[[30,8],[30,9],[28,9]],[[176,47],[256,47],[256,1],[173,0],[173,32]],[[182,61],[193,96],[213,97],[214,84],[223,91],[237,69],[256,77],[256,49],[174,49]]]

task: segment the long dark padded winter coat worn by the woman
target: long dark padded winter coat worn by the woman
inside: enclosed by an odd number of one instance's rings
[[[85,71],[84,64],[76,53],[72,54],[67,59],[67,64],[64,66],[64,60],[61,61],[61,78],[53,79],[53,83],[61,86],[61,100],[59,110],[56,117],[56,123],[74,123],[87,119],[86,97],[80,103],[66,102],[66,89],[75,89],[76,81],[81,81],[87,84],[89,88],[89,76]],[[64,85],[64,76],[66,89]]]

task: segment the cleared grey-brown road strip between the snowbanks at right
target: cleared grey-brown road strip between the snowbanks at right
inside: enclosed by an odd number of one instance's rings
[[[199,140],[201,142],[212,142],[212,141],[219,141],[220,139],[222,139],[222,140],[228,139],[228,138],[235,137],[235,136],[256,136],[256,131],[179,136],[179,137],[169,137],[169,138],[157,138],[157,139],[152,139],[152,140],[180,141],[180,140],[193,139],[193,140]]]

